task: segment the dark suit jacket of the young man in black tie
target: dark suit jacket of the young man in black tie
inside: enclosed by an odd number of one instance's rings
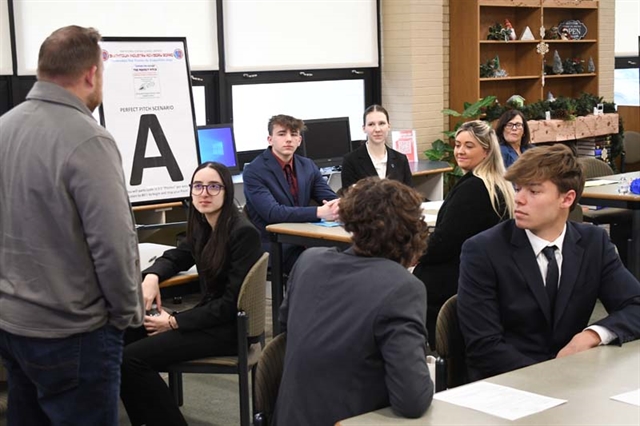
[[[640,284],[607,233],[567,222],[560,285],[551,323],[538,263],[513,220],[462,247],[458,318],[473,380],[552,359],[589,324],[596,299],[609,315],[595,324],[622,344],[640,337]]]

